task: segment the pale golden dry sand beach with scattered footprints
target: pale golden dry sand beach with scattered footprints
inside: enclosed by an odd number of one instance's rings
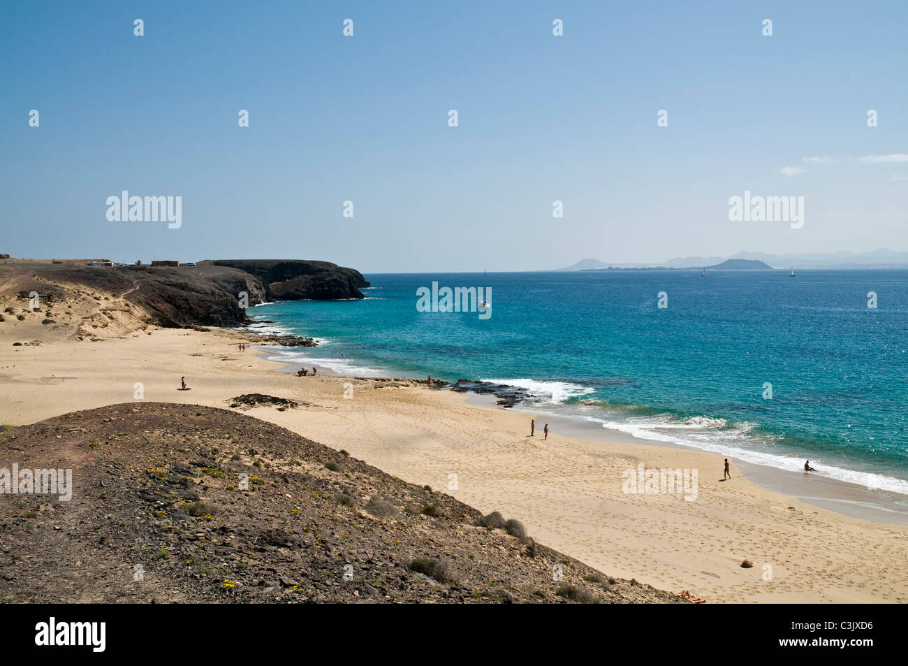
[[[274,373],[277,363],[240,353],[215,332],[157,329],[104,342],[12,346],[53,334],[36,323],[0,324],[0,422],[128,403],[135,383],[145,400],[214,407],[241,393],[267,393],[311,406],[250,415],[482,512],[517,518],[539,542],[610,575],[689,590],[708,602],[908,601],[908,529],[765,491],[734,464],[733,481],[719,482],[722,459],[712,453],[557,432],[543,442],[541,422],[528,437],[528,414],[473,406],[449,391]],[[192,391],[176,390],[181,375]],[[343,398],[347,382],[350,400]],[[622,492],[621,472],[638,462],[698,469],[696,501]],[[449,473],[458,475],[456,491],[447,490]],[[745,558],[752,569],[740,568]]]

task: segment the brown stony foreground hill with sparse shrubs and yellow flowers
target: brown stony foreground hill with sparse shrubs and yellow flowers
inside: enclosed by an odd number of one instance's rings
[[[232,401],[250,403],[269,396]],[[681,602],[535,542],[519,516],[233,411],[125,403],[6,427],[0,470],[14,462],[72,469],[74,491],[0,494],[2,601]]]

